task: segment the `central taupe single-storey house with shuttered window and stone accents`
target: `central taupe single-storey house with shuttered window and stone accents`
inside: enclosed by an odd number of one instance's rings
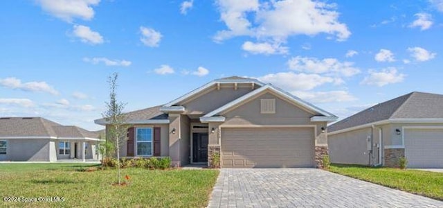
[[[327,122],[336,120],[278,87],[237,76],[125,115],[123,157],[169,156],[183,166],[210,164],[219,153],[221,167],[248,168],[317,166],[327,154]]]

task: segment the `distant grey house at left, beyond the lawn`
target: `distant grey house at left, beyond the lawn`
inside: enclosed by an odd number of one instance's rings
[[[40,117],[0,118],[0,161],[99,159],[97,132]]]

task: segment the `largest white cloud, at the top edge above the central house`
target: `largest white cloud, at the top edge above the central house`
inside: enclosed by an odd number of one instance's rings
[[[227,30],[214,36],[221,42],[235,36],[271,38],[284,42],[291,35],[317,35],[326,33],[336,39],[346,40],[350,35],[347,26],[338,21],[334,4],[311,0],[218,0],[217,6]],[[250,18],[248,18],[250,17]],[[250,19],[253,19],[250,20]]]

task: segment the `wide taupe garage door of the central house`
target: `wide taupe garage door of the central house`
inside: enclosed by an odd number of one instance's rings
[[[224,168],[314,166],[314,128],[222,128]]]

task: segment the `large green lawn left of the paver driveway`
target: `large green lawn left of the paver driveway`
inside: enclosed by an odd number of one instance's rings
[[[205,207],[219,171],[122,169],[129,185],[113,186],[115,169],[94,164],[0,164],[0,207]],[[64,202],[4,202],[4,197],[63,197]]]

